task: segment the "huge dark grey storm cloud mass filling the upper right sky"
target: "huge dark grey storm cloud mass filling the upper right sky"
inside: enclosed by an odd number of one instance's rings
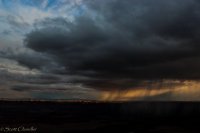
[[[200,78],[199,1],[88,0],[84,4],[88,12],[74,22],[64,18],[37,22],[25,46],[50,55],[66,74],[97,81]]]

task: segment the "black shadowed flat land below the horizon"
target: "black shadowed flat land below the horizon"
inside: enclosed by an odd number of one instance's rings
[[[198,102],[1,101],[0,132],[199,133]]]

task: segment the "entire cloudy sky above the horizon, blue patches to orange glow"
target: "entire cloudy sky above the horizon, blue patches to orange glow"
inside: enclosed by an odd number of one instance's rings
[[[0,98],[199,101],[199,0],[0,0]]]

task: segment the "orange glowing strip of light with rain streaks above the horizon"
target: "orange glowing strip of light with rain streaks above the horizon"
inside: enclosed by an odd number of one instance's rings
[[[170,81],[167,81],[170,85]],[[176,81],[178,82],[178,81]],[[171,81],[174,83],[174,81]],[[151,98],[154,100],[155,96],[168,93],[168,97],[165,100],[169,101],[200,101],[200,81],[182,81],[178,82],[178,85],[172,85],[171,87],[162,86],[158,87],[153,85],[153,88],[130,88],[128,90],[111,90],[103,91],[100,95],[102,101],[131,101],[131,100],[143,100],[145,98]],[[155,83],[158,84],[158,83]],[[155,100],[162,100],[162,97]]]

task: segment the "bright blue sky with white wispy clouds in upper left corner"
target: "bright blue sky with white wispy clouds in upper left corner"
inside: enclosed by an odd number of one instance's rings
[[[35,21],[45,18],[72,22],[84,9],[82,0],[0,0],[0,33],[26,34]]]

